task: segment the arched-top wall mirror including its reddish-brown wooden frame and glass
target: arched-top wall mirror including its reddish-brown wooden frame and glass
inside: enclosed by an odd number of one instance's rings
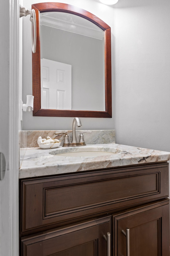
[[[111,28],[64,3],[37,3],[34,116],[112,117]]]

